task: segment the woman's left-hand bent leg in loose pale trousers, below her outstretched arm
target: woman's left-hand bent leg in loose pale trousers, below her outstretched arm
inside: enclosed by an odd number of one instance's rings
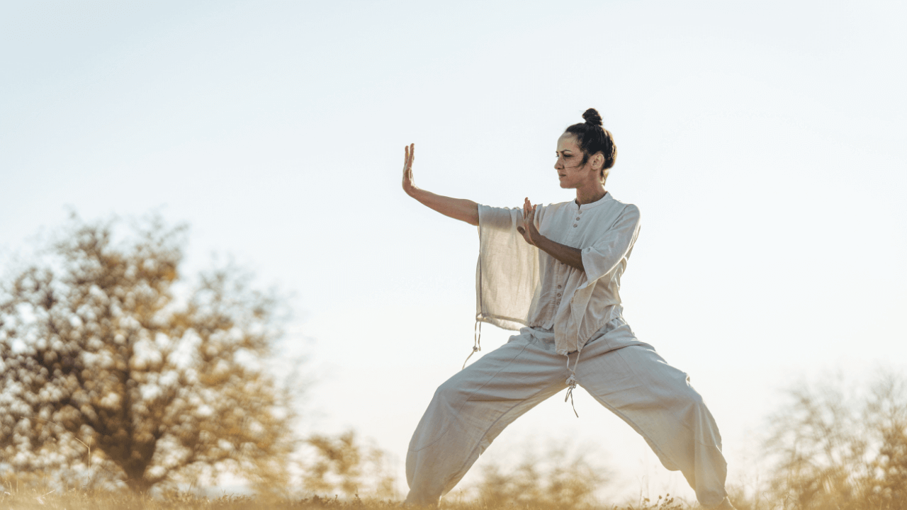
[[[528,333],[457,372],[434,392],[406,455],[406,503],[436,505],[514,419],[565,387],[553,344]]]

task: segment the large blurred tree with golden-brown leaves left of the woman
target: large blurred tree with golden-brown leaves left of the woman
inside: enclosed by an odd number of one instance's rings
[[[232,266],[184,279],[183,227],[117,226],[73,214],[0,282],[0,467],[140,493],[228,471],[280,485],[293,412],[263,366],[280,300]]]

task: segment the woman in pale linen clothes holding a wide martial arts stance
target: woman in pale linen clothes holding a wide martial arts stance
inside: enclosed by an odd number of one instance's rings
[[[733,508],[721,437],[702,397],[621,316],[620,275],[639,209],[605,191],[614,140],[598,112],[583,118],[558,139],[554,164],[576,200],[547,206],[527,198],[522,210],[494,208],[419,189],[414,144],[405,148],[406,193],[479,227],[476,320],[520,330],[434,393],[406,456],[407,503],[437,505],[504,427],[580,385],[680,470],[701,505]]]

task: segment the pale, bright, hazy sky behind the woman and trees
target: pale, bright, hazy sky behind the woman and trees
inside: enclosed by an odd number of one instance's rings
[[[291,294],[301,433],[395,458],[473,342],[474,227],[400,188],[569,201],[558,136],[594,107],[639,206],[637,336],[690,375],[747,483],[785,387],[907,370],[901,2],[0,2],[0,260],[63,225],[160,213],[184,272],[229,254]],[[484,351],[512,332],[483,329]],[[474,359],[474,358],[473,358]],[[502,433],[692,497],[583,392]],[[401,484],[401,490],[405,487]]]

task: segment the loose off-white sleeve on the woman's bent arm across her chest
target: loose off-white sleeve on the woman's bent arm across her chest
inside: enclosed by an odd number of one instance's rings
[[[582,267],[586,270],[586,281],[580,289],[610,274],[621,260],[629,257],[638,235],[639,208],[629,204],[600,239],[582,249]]]

